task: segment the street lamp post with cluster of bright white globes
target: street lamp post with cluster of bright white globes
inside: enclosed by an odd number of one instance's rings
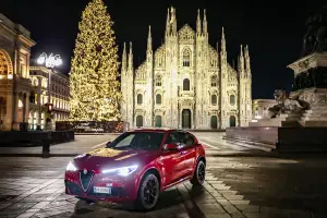
[[[37,63],[38,64],[45,64],[46,68],[50,69],[49,77],[48,77],[48,104],[47,104],[48,112],[50,113],[51,110],[52,110],[52,104],[51,104],[51,73],[52,73],[52,71],[55,71],[56,66],[59,66],[59,65],[62,64],[62,59],[59,55],[55,56],[53,53],[50,53],[50,56],[47,56],[47,53],[44,52],[37,59]],[[50,121],[51,121],[51,118],[50,118]]]

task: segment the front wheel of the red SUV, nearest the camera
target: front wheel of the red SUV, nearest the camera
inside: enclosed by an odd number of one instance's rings
[[[158,177],[152,172],[146,173],[138,185],[137,199],[134,208],[152,210],[155,208],[160,195]]]

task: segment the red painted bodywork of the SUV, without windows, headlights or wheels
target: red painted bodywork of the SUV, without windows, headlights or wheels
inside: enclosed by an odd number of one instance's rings
[[[160,191],[190,180],[196,169],[199,158],[205,158],[205,149],[197,138],[185,131],[143,129],[130,131],[129,133],[162,133],[164,138],[158,149],[129,149],[122,153],[104,155],[106,157],[82,155],[75,157],[71,162],[75,166],[75,171],[65,171],[65,193],[89,201],[126,202],[137,198],[137,191],[143,175],[148,170],[156,170],[160,177]],[[173,132],[189,134],[194,140],[194,144],[185,146],[179,150],[164,152],[167,138]],[[100,154],[112,152],[111,148],[97,149]],[[137,165],[138,168],[133,173],[123,177],[119,174],[105,174],[104,169],[121,168]],[[82,189],[80,173],[83,170],[94,173],[87,189]],[[85,185],[84,185],[85,186]],[[111,195],[93,193],[94,186],[111,187]]]

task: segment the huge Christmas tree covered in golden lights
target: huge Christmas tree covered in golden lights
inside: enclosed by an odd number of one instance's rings
[[[121,99],[113,22],[102,0],[82,14],[70,73],[70,119],[116,121]]]

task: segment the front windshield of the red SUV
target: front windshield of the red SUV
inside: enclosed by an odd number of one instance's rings
[[[155,150],[161,145],[164,133],[129,132],[117,137],[108,147],[112,149]]]

